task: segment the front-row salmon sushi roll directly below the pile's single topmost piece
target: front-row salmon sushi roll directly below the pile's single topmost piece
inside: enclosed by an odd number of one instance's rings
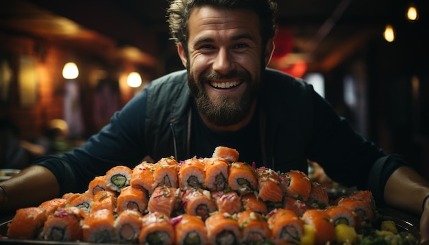
[[[241,244],[241,229],[236,216],[217,212],[205,221],[208,244]]]

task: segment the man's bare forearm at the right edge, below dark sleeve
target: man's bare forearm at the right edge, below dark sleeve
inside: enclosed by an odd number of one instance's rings
[[[415,170],[400,167],[393,172],[384,188],[384,201],[414,214],[421,214],[424,197],[429,194],[429,183]]]

